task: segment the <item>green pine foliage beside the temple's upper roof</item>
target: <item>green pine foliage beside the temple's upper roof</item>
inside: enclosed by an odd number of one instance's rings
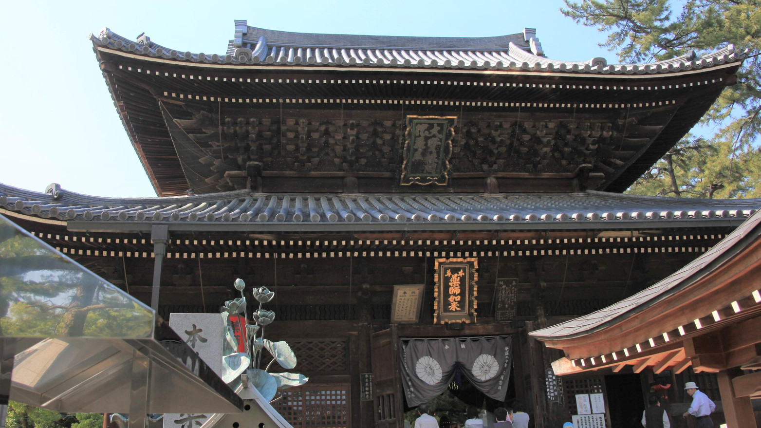
[[[761,0],[565,0],[562,12],[607,34],[622,62],[651,62],[721,49],[747,50],[737,84],[724,88],[702,123],[710,139],[683,139],[629,193],[698,198],[759,197]]]

